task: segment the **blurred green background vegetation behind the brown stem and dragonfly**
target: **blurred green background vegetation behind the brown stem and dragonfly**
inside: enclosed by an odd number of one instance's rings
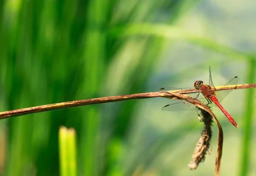
[[[251,50],[256,26],[243,16],[235,19],[240,26],[232,26],[232,15],[245,12],[236,10],[240,5],[228,6],[229,10],[221,1],[199,0],[1,0],[1,111],[189,87],[193,83],[187,84],[188,79],[198,79],[202,72],[208,80],[209,65],[215,70],[213,81],[239,74],[242,83],[255,83]],[[255,20],[253,6],[243,3],[248,23]],[[243,24],[248,25],[244,38],[239,35]],[[230,160],[237,166],[232,165],[232,172],[243,176],[256,162],[248,154],[254,145],[255,90],[240,97],[240,111],[232,110],[243,116],[236,120],[241,132],[232,128],[230,133],[240,136],[235,141],[243,141],[241,146],[236,143],[242,150],[234,147]],[[195,118],[169,117],[160,111],[162,105],[127,101],[1,120],[0,175],[60,175],[61,125],[77,132],[78,175],[213,175],[215,152],[198,170],[189,171],[184,164],[189,163],[201,124]],[[171,120],[165,121],[164,115]],[[226,119],[222,124],[230,125]],[[229,141],[224,130],[225,139]],[[230,173],[230,160],[222,162],[223,173]]]

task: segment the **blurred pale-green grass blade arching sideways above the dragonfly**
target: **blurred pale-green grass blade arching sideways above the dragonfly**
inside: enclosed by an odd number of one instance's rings
[[[123,28],[123,29],[122,29]],[[152,35],[164,37],[170,40],[185,40],[186,42],[191,42],[192,44],[203,46],[205,49],[212,50],[213,52],[218,52],[226,55],[233,59],[245,59],[250,63],[251,58],[255,58],[253,53],[241,52],[233,49],[229,46],[218,43],[210,38],[192,34],[187,32],[182,28],[175,25],[163,25],[163,24],[134,24],[124,26],[122,28],[114,28],[113,35],[117,37],[125,36],[138,36],[138,35]],[[125,30],[125,32],[120,33],[118,31]],[[121,36],[120,36],[121,35]]]

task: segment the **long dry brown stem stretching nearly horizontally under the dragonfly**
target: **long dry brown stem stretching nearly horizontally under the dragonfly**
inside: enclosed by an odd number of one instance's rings
[[[233,86],[219,86],[215,87],[216,90],[223,89],[244,89],[244,88],[252,88],[256,87],[256,84],[241,84],[241,85],[233,85]],[[193,92],[198,92],[196,89],[183,89],[183,90],[175,90],[169,91],[178,94],[188,94]],[[78,100],[78,101],[68,101],[63,103],[56,103],[56,104],[47,104],[37,107],[29,107],[23,108],[18,110],[11,110],[0,113],[0,119],[3,118],[10,118],[20,115],[27,115],[33,113],[41,113],[45,111],[51,110],[60,110],[70,107],[79,107],[91,104],[101,104],[101,103],[109,103],[109,102],[116,102],[116,101],[125,101],[125,100],[135,100],[135,99],[144,99],[144,98],[154,98],[154,97],[168,97],[168,98],[176,98],[176,96],[172,96],[167,92],[148,92],[148,93],[138,93],[138,94],[131,94],[131,95],[119,95],[119,96],[112,96],[112,97],[103,97],[103,98],[93,98],[93,99],[86,99],[86,100]]]

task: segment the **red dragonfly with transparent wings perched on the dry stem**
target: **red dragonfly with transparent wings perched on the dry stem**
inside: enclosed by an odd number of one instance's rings
[[[195,81],[194,87],[193,88],[183,88],[183,89],[197,89],[198,92],[193,92],[193,93],[188,93],[186,95],[190,95],[194,97],[195,99],[201,101],[203,104],[205,104],[208,107],[212,107],[213,103],[212,101],[218,106],[221,111],[226,115],[227,119],[235,126],[238,128],[238,125],[236,124],[236,121],[232,118],[232,116],[224,109],[224,107],[221,106],[219,102],[221,102],[227,94],[231,91],[230,90],[215,90],[215,87],[212,84],[212,75],[211,75],[211,69],[209,67],[209,85],[205,85],[203,81]],[[228,85],[235,85],[237,84],[239,78],[235,76],[232,78],[230,81],[227,82],[227,84],[224,85],[224,87]],[[161,88],[158,91],[170,91],[170,90],[182,90],[181,88]],[[176,103],[168,104],[162,108],[164,111],[179,111],[179,110],[197,110],[197,107],[189,103],[188,101],[185,100],[175,100],[179,101]]]

